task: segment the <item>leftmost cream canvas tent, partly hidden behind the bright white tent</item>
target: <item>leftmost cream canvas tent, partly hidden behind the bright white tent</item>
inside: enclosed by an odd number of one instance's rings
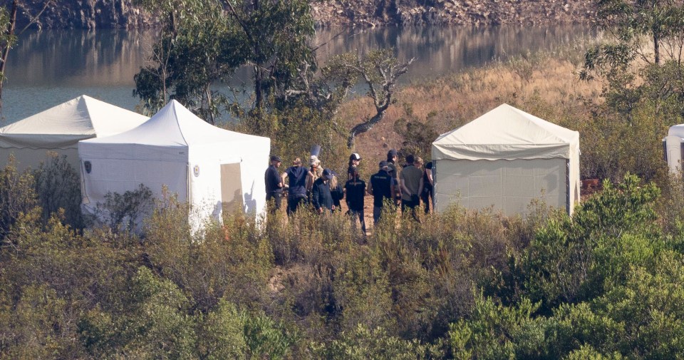
[[[79,96],[0,128],[0,166],[14,153],[19,169],[35,169],[50,151],[66,155],[78,169],[78,140],[121,133],[146,120],[147,116]]]

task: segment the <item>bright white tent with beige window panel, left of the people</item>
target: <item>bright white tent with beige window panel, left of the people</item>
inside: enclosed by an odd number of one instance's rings
[[[166,186],[190,204],[194,230],[222,210],[261,214],[270,150],[271,139],[217,128],[174,100],[138,128],[78,143],[83,210],[98,215],[108,192],[142,184],[157,199]]]

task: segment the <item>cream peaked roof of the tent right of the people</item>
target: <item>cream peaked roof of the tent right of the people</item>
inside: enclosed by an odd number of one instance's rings
[[[432,159],[569,158],[579,133],[502,104],[432,143]]]

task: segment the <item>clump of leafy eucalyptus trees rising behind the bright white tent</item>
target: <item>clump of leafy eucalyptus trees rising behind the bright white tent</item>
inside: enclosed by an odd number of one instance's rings
[[[234,104],[212,85],[226,81],[240,66],[249,66],[254,81],[249,110],[263,113],[291,86],[301,61],[315,63],[309,47],[315,31],[308,1],[140,0],[140,4],[160,15],[162,22],[150,65],[135,76],[133,93],[149,112],[175,98],[214,123]]]

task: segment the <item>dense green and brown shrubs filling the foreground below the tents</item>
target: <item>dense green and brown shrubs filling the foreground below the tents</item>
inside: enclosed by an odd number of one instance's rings
[[[680,185],[663,197],[627,175],[572,218],[543,204],[525,218],[454,207],[367,238],[342,215],[306,212],[236,213],[193,236],[170,197],[136,237],[43,216],[31,173],[9,166],[0,180],[2,358],[684,354]]]

